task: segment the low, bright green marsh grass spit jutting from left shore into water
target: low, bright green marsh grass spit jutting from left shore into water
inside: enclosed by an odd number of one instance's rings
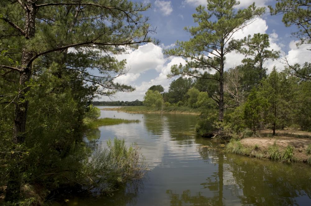
[[[100,118],[100,119],[89,119],[85,118],[84,125],[86,129],[95,129],[104,125],[118,125],[118,124],[130,124],[130,123],[139,123],[139,120],[125,120],[125,119],[117,119],[117,118]]]

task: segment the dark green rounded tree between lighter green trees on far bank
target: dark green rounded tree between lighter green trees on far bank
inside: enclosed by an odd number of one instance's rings
[[[191,78],[179,77],[169,84],[168,100],[169,103],[186,102],[186,94],[192,87],[193,80]]]

